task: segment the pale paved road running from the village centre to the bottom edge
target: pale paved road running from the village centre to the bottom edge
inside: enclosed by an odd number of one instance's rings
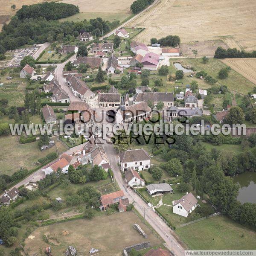
[[[114,172],[114,177],[118,183],[120,189],[123,190],[125,196],[129,198],[130,202],[134,201],[134,207],[142,216],[144,216],[145,209],[145,220],[157,231],[157,233],[166,242],[166,247],[172,250],[176,255],[184,255],[184,249],[181,244],[177,242],[173,236],[173,231],[161,220],[161,218],[146,204],[139,195],[127,188],[124,180],[122,179],[121,173],[118,167],[118,156],[113,148],[112,144],[105,145],[105,151],[110,159],[111,169]]]

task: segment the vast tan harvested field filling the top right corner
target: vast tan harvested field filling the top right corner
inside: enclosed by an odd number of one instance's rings
[[[256,49],[255,0],[159,0],[129,23],[142,26],[140,41],[179,35],[182,43],[222,39],[228,46]]]

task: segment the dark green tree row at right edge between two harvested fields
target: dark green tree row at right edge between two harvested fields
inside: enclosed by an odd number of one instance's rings
[[[245,52],[236,48],[224,49],[222,47],[218,47],[215,51],[214,58],[256,58],[256,51]]]

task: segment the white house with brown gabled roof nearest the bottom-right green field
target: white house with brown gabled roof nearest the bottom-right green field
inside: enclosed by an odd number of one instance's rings
[[[187,195],[183,195],[180,200],[174,201],[173,204],[173,213],[187,217],[198,206],[198,201],[190,192]]]

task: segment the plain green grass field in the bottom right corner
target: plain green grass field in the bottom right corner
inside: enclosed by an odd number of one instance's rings
[[[256,249],[256,232],[224,216],[207,218],[197,223],[177,228],[175,231],[188,245],[189,249]]]

